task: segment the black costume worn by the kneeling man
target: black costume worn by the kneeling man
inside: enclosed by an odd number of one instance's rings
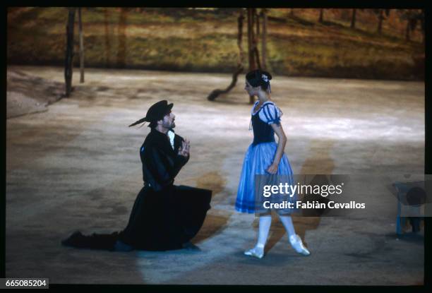
[[[161,102],[167,107],[166,101]],[[184,247],[203,225],[212,191],[174,185],[174,178],[189,160],[178,154],[183,141],[175,134],[173,148],[167,134],[152,128],[140,148],[144,186],[133,204],[126,228],[89,236],[76,232],[62,244],[108,250],[121,250],[119,244],[151,251]]]

